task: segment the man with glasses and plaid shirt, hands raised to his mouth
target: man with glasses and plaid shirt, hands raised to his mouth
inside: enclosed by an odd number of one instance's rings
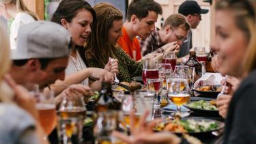
[[[182,14],[171,14],[161,29],[156,29],[146,40],[140,40],[141,54],[163,53],[180,49],[186,40],[190,25]]]

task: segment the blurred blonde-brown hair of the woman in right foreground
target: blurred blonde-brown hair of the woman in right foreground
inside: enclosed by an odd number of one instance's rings
[[[235,16],[235,25],[248,40],[243,61],[243,76],[256,68],[256,3],[253,0],[222,0],[216,3],[216,10],[231,10]]]

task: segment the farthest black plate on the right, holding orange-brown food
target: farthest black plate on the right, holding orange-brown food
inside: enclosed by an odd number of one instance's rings
[[[221,85],[203,85],[193,88],[193,91],[200,93],[204,97],[216,98],[221,92]]]

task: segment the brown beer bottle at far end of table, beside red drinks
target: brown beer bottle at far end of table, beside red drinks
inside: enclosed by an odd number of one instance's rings
[[[184,65],[195,68],[195,77],[194,77],[194,82],[195,82],[197,81],[197,79],[201,78],[202,76],[202,64],[197,60],[195,51],[190,51],[189,55],[190,55],[189,59],[188,61],[186,61],[186,63],[184,63]]]

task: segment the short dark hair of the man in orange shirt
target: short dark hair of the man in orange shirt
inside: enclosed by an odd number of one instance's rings
[[[141,20],[147,17],[149,11],[162,14],[162,7],[154,0],[133,0],[128,6],[127,19],[130,21],[131,16],[134,14]]]

